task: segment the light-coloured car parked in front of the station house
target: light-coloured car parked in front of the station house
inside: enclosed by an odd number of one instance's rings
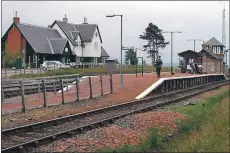
[[[69,68],[70,66],[65,65],[59,61],[45,61],[41,65],[41,69],[44,71],[47,70],[55,70],[55,69],[64,69],[64,68]]]

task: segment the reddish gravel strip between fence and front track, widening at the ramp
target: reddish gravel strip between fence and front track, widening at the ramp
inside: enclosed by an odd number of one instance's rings
[[[174,77],[184,75],[188,74],[176,74]],[[170,76],[169,73],[163,73],[161,77]],[[113,79],[114,94],[71,104],[28,110],[26,113],[4,115],[2,116],[2,128],[16,127],[131,101],[158,80],[155,73],[144,74],[144,77],[138,76],[137,78],[135,75],[124,75],[124,87],[120,90],[119,75],[114,75]]]

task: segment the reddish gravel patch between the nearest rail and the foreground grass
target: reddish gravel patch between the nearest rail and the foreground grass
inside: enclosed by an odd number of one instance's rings
[[[180,106],[184,106],[188,101],[200,102],[205,100],[210,95],[216,95],[221,89],[229,89],[229,86],[223,86],[217,90],[204,92],[188,100],[181,101]],[[107,127],[93,129],[72,138],[61,139],[29,152],[91,152],[107,147],[116,148],[127,144],[136,145],[148,135],[150,128],[156,127],[160,130],[173,131],[177,128],[176,120],[186,119],[184,114],[172,111],[162,112],[161,110],[157,109],[126,116]]]

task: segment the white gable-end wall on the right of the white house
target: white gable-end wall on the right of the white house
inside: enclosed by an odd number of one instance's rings
[[[96,37],[97,32],[97,37]],[[95,44],[97,43],[97,45]],[[92,42],[84,42],[83,48],[84,57],[101,57],[101,40],[98,29],[95,30]]]

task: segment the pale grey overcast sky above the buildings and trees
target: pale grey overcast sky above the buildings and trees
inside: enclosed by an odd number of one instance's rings
[[[139,39],[148,23],[156,24],[163,31],[182,31],[175,34],[173,41],[175,63],[177,53],[192,49],[193,42],[188,39],[208,41],[216,37],[222,42],[222,10],[220,1],[3,1],[2,2],[2,35],[12,24],[13,10],[18,12],[20,22],[40,26],[52,24],[54,20],[62,20],[67,14],[71,23],[98,24],[103,46],[112,58],[120,59],[120,18],[106,18],[107,14],[123,15],[123,46],[141,48],[146,42]],[[229,48],[229,2],[226,8],[226,46]],[[164,34],[170,41],[170,34]],[[196,43],[196,51],[201,50],[202,42]],[[160,50],[164,63],[170,63],[171,46]],[[138,53],[141,56],[141,53]],[[144,53],[146,57],[146,53]],[[150,59],[146,60],[150,63]]]

